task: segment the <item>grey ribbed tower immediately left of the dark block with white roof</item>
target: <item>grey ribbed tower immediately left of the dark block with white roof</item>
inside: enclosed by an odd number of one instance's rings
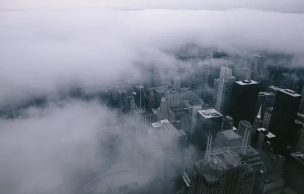
[[[180,106],[183,108],[182,129],[190,139],[195,132],[196,116],[197,111],[202,108],[201,102],[198,99],[190,98],[190,100],[182,101]]]

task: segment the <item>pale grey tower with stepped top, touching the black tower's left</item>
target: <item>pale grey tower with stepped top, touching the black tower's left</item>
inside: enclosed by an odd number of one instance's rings
[[[230,96],[235,77],[232,69],[221,67],[215,109],[222,115],[226,115],[230,105]]]

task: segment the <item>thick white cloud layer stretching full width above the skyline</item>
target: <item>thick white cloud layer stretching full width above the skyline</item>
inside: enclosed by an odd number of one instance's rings
[[[304,15],[229,11],[102,9],[0,12],[0,102],[132,75],[134,61],[173,65],[161,52],[188,42],[304,53]]]

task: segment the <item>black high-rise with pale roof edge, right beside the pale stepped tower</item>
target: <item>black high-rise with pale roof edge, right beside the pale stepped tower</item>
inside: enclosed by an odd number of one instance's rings
[[[254,123],[259,85],[253,80],[233,82],[228,114],[233,117],[235,127],[241,120]]]

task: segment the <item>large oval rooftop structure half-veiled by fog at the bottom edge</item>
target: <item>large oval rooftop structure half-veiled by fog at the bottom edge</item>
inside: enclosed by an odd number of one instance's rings
[[[156,175],[147,169],[127,168],[97,177],[84,189],[92,194],[144,193],[155,179]]]

